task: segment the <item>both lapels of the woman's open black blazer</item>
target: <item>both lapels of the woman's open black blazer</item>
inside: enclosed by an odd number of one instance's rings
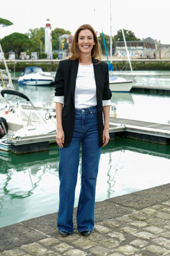
[[[96,60],[92,57],[92,62],[93,62],[94,73],[95,73],[96,95],[97,95],[97,103],[98,103],[100,88],[102,88],[102,86],[103,86],[103,75],[102,75],[102,69],[100,67],[100,64],[94,65],[95,63],[98,63],[98,60]],[[74,106],[75,106],[75,101],[74,101],[75,83],[76,83],[78,68],[79,68],[79,59],[72,61],[71,92],[72,92],[72,99],[73,99]]]

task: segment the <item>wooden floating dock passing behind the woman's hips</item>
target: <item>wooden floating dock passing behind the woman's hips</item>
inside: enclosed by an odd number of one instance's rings
[[[157,124],[144,121],[109,117],[110,140],[116,136],[156,143],[161,145],[170,144],[170,124]],[[49,150],[50,143],[56,143],[56,133],[39,136],[4,139],[11,144],[11,153],[23,155],[33,152]]]

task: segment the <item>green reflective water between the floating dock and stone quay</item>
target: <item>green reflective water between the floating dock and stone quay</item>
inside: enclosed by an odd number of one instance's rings
[[[169,159],[170,146],[116,137],[102,149],[96,201],[167,183]],[[81,161],[80,152],[74,207],[81,189]],[[0,227],[58,211],[58,164],[55,144],[47,152],[0,155]]]

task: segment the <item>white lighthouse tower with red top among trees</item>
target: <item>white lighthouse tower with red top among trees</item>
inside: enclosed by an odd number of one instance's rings
[[[46,20],[46,27],[45,27],[45,53],[47,53],[47,59],[52,59],[52,31],[51,31],[51,24],[50,20]]]

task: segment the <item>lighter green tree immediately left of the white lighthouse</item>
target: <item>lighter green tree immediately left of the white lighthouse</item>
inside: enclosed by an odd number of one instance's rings
[[[28,37],[31,39],[32,45],[30,52],[40,52],[40,43],[42,44],[42,51],[45,49],[45,29],[41,28],[30,28],[27,33]]]

